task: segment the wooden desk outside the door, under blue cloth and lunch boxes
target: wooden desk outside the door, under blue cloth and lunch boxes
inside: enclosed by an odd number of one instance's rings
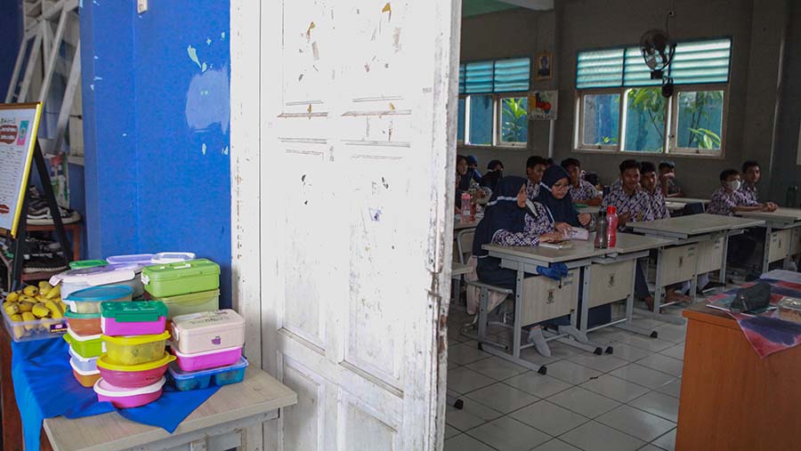
[[[173,434],[125,420],[116,412],[69,420],[44,420],[55,451],[156,449],[255,449],[262,423],[279,417],[281,407],[297,403],[297,395],[270,374],[247,368],[245,380],[222,387],[178,426]],[[249,429],[251,428],[251,429]],[[252,440],[252,441],[250,441]]]

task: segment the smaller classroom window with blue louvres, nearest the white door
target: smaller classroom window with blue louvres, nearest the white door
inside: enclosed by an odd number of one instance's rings
[[[530,58],[459,65],[457,141],[469,146],[524,147]]]

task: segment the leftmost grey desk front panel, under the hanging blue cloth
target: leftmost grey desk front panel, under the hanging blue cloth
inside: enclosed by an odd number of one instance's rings
[[[570,270],[557,280],[535,276],[523,280],[521,320],[524,326],[569,315],[576,308],[578,270]]]

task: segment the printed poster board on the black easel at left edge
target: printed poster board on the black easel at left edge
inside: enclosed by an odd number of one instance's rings
[[[0,229],[17,235],[41,103],[0,104]]]

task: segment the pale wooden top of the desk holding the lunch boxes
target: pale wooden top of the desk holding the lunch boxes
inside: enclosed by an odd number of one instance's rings
[[[174,435],[242,420],[295,403],[295,391],[262,370],[247,368],[244,381],[226,385],[214,393],[178,426]],[[128,421],[116,412],[76,420],[63,416],[48,418],[44,420],[44,431],[56,451],[110,451],[170,437],[161,428]]]

